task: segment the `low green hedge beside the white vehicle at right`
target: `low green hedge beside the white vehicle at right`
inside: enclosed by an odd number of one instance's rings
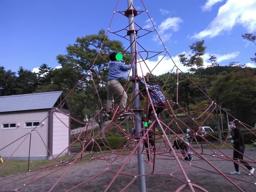
[[[207,132],[208,135],[206,135],[204,138],[210,142],[212,141],[218,141],[218,131],[215,131],[215,132]],[[222,141],[225,141],[227,136],[228,136],[228,133],[229,131],[222,131],[221,132],[221,138],[222,138]],[[253,132],[255,135],[256,135],[256,131]],[[252,132],[244,132],[243,135],[244,135],[244,143],[252,143],[252,140],[254,141],[256,139],[256,136],[253,134]],[[214,136],[215,138],[213,138],[212,136]],[[201,141],[201,138],[199,136],[196,137],[196,139],[198,141]],[[231,138],[230,138],[231,139]]]

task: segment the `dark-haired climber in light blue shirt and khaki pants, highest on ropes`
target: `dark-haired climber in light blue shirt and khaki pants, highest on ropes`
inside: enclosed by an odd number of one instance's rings
[[[110,108],[112,107],[112,99],[113,99],[113,93],[117,93],[117,95],[121,98],[120,101],[120,109],[123,110],[126,108],[127,103],[127,94],[124,91],[123,86],[120,83],[120,80],[122,78],[126,79],[126,81],[129,81],[128,76],[128,70],[131,69],[131,65],[125,65],[124,63],[117,61],[116,59],[117,53],[110,53],[109,54],[109,75],[108,75],[108,98],[107,98],[107,109],[105,116],[109,117],[111,114]],[[136,60],[133,60],[133,64],[135,64]],[[120,114],[120,112],[117,112]],[[123,112],[123,115],[128,114],[128,112],[125,110]],[[122,115],[122,114],[120,114]]]

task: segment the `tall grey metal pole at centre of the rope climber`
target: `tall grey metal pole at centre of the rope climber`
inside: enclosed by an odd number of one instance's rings
[[[128,9],[133,9],[132,7],[132,0],[127,0],[128,1]],[[134,17],[132,16],[132,13],[129,13],[129,30],[135,30],[134,29],[134,21],[133,21]],[[135,56],[135,42],[133,42],[135,39],[135,33],[130,33],[130,44],[131,44],[131,61],[133,61],[133,58]],[[132,78],[135,78],[135,66],[132,67]],[[133,97],[135,97],[134,99],[134,109],[139,109],[140,108],[140,98],[139,95],[136,96],[138,94],[138,90],[139,90],[139,83],[133,82]],[[135,110],[135,115],[137,118],[135,118],[135,129],[136,129],[136,133],[139,133],[142,131],[141,128],[141,123],[140,123],[140,119],[141,119],[141,114],[139,111]],[[139,141],[137,141],[138,144]],[[137,149],[137,153],[138,153],[138,169],[139,169],[139,175],[144,175],[145,174],[145,167],[144,167],[144,160],[143,160],[143,155],[142,155],[142,148],[143,148],[143,143],[140,143],[140,146]],[[140,186],[140,192],[146,192],[146,180],[145,180],[145,176],[140,176],[139,177],[139,186]]]

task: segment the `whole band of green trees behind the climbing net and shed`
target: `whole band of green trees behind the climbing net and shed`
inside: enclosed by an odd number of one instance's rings
[[[254,35],[245,34],[243,37],[255,43]],[[104,82],[107,82],[109,61],[105,54],[101,54],[96,60],[95,58],[100,49],[107,54],[125,50],[122,42],[111,40],[109,37],[106,37],[101,48],[104,38],[104,30],[100,30],[97,34],[78,37],[74,44],[67,46],[66,54],[57,56],[59,68],[53,69],[44,63],[37,73],[23,67],[20,67],[16,73],[0,67],[0,96],[49,91],[63,91],[67,95],[77,85],[67,98],[71,115],[80,121],[84,120],[86,114],[90,118],[95,116],[101,107],[99,103],[106,105],[107,91]],[[256,69],[245,67],[236,61],[231,62],[229,66],[220,66],[217,62],[218,58],[214,55],[210,55],[209,58],[211,65],[204,68],[203,56],[206,52],[204,40],[196,41],[189,48],[191,52],[188,57],[185,54],[179,55],[181,63],[189,68],[188,73],[185,75],[180,73],[178,80],[175,73],[169,72],[155,75],[155,79],[150,76],[150,82],[157,82],[163,87],[166,97],[173,102],[178,102],[179,106],[189,115],[193,116],[194,113],[202,110],[193,118],[203,113],[204,107],[210,103],[207,96],[210,96],[218,105],[230,109],[230,113],[238,120],[253,126],[256,123]],[[125,61],[130,61],[130,59],[129,55],[124,55]],[[95,71],[91,70],[93,62]],[[96,73],[101,78],[98,78]],[[124,85],[125,82],[122,84]],[[142,88],[140,85],[140,89]],[[97,93],[101,100],[98,100]],[[132,86],[127,94],[128,98],[132,97]],[[146,91],[142,94],[146,96]],[[119,98],[114,99],[116,103],[119,102]],[[145,109],[147,104],[142,97],[140,99]],[[174,105],[173,110],[177,114],[182,113],[177,105]],[[223,115],[219,114],[221,110],[217,108],[213,114],[210,114],[210,111],[198,119],[198,123],[212,128],[219,127],[218,119]],[[166,114],[164,113],[163,116],[167,120],[170,117]],[[208,116],[208,120],[204,121]],[[192,126],[191,121],[187,123]],[[79,126],[81,126],[79,123],[72,121],[72,128]]]

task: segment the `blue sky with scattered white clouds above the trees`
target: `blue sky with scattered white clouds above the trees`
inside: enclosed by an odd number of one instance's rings
[[[197,0],[170,1],[144,0],[153,22],[174,62],[182,71],[186,68],[178,64],[177,55],[189,52],[188,45],[205,39],[207,46],[206,66],[209,54],[215,54],[221,65],[230,61],[248,63],[256,67],[250,57],[255,53],[255,45],[244,41],[241,34],[256,31],[256,0]],[[76,37],[97,33],[101,28],[107,30],[117,0],[2,0],[0,1],[0,66],[17,71],[19,66],[33,70],[42,63],[54,68],[58,54],[64,54],[68,44]],[[143,10],[140,0],[134,6]],[[120,0],[117,10],[124,11],[127,1]],[[253,13],[254,12],[254,13]],[[143,12],[135,17],[141,27],[151,27],[148,16]],[[110,31],[123,29],[128,19],[116,13]],[[122,34],[123,35],[123,34]],[[146,50],[160,51],[163,45],[151,33],[139,39]],[[110,34],[112,39],[120,39]],[[124,43],[128,46],[128,41]],[[161,56],[148,61],[154,66]],[[172,65],[164,59],[162,66]],[[172,67],[160,65],[155,70],[161,74]]]

